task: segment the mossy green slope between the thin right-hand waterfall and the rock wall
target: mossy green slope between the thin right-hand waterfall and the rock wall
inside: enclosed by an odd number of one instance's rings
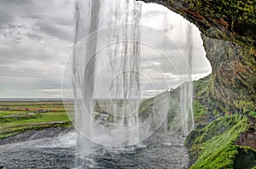
[[[247,95],[243,95],[240,100],[233,100],[233,104],[229,102],[229,99],[216,99],[216,84],[214,81],[214,77],[209,75],[194,82],[193,109],[196,124],[208,124],[229,110],[234,114],[243,112],[254,116],[255,105],[252,104]],[[226,93],[230,93],[230,91]],[[231,93],[229,97],[233,99]]]

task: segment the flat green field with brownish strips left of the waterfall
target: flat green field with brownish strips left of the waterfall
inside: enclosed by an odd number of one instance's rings
[[[0,102],[0,138],[49,127],[70,126],[61,101]]]

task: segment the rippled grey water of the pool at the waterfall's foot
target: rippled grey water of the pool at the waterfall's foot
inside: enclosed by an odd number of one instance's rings
[[[137,146],[98,147],[79,155],[75,132],[0,146],[0,168],[187,168],[184,138],[156,132]]]

